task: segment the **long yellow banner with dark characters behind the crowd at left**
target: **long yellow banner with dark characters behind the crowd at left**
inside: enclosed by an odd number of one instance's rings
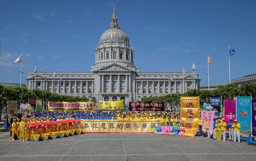
[[[93,111],[94,102],[49,102],[49,111]]]

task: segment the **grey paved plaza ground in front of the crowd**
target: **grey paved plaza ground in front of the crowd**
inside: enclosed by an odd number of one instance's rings
[[[256,146],[203,136],[89,133],[40,142],[0,137],[0,160],[256,160]]]

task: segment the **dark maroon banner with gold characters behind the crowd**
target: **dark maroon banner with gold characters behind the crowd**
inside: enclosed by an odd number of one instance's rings
[[[164,103],[156,101],[129,102],[130,111],[164,111]]]

